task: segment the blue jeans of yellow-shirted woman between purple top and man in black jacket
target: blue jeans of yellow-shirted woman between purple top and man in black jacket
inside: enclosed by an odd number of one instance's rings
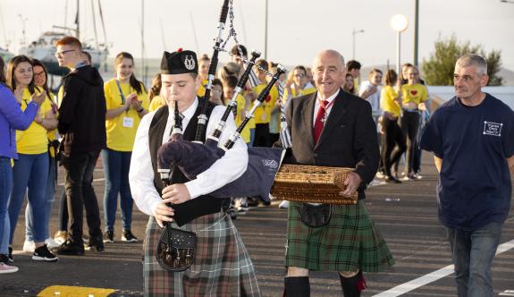
[[[11,233],[9,244],[13,244],[14,229],[20,215],[21,204],[27,188],[29,203],[34,218],[34,242],[45,242],[46,183],[48,182],[48,154],[19,154],[13,167],[13,193],[9,201]]]

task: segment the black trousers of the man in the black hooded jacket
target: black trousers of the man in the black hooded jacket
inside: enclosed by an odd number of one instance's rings
[[[88,220],[89,236],[99,236],[100,211],[98,209],[97,196],[93,189],[93,172],[97,164],[100,151],[87,153],[75,153],[70,157],[62,157],[64,169],[66,170],[66,202],[68,215],[70,217],[70,233],[68,239],[75,244],[83,244],[82,222],[83,208],[86,208],[86,219]]]

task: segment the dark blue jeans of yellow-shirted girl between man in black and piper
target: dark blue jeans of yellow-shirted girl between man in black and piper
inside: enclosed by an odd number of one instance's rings
[[[131,168],[130,151],[117,151],[110,148],[102,150],[102,162],[105,172],[104,216],[105,230],[114,231],[118,193],[120,193],[120,208],[122,209],[123,230],[130,230],[132,225],[132,199],[129,184],[129,169]]]

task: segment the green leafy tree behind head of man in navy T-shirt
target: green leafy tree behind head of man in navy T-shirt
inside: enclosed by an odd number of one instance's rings
[[[439,38],[434,44],[434,53],[428,61],[423,59],[423,79],[433,86],[452,86],[455,63],[461,55],[475,53],[487,61],[488,86],[501,86],[503,79],[498,76],[501,69],[501,51],[492,50],[486,54],[482,45],[471,46],[469,41],[459,44],[455,35]]]

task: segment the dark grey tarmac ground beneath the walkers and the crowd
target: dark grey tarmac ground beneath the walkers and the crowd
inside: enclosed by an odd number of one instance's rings
[[[437,174],[432,157],[427,153],[424,153],[422,168],[421,180],[401,184],[382,182],[367,191],[367,209],[392,250],[396,265],[383,273],[367,274],[368,287],[363,296],[374,296],[379,293],[382,293],[380,296],[397,296],[399,293],[384,293],[395,287],[399,290],[405,287],[411,289],[404,290],[403,292],[410,291],[401,296],[457,294],[453,276],[448,273],[451,271],[448,270],[448,266],[451,265],[450,247],[446,241],[445,230],[437,221],[434,195]],[[63,174],[60,174],[59,179],[56,201],[63,191]],[[95,172],[94,186],[103,215],[104,180],[100,162]],[[252,208],[247,214],[240,215],[235,220],[235,225],[256,267],[263,296],[282,296],[287,213],[277,206],[278,201],[274,201],[270,207]],[[52,234],[57,230],[57,209],[55,203],[50,225]],[[493,261],[494,292],[501,296],[514,296],[512,210],[501,237],[501,243],[504,243],[501,247],[505,251],[498,254]],[[34,262],[30,259],[29,253],[21,250],[24,241],[24,222],[22,211],[13,244],[14,262],[20,267],[20,271],[0,276],[0,296],[34,296],[38,293],[44,296],[107,295],[106,291],[95,291],[93,288],[117,290],[111,294],[113,296],[142,295],[142,242],[121,242],[119,210],[114,230],[116,242],[107,243],[103,252],[87,251],[86,255],[81,257],[60,256],[58,263]],[[132,232],[139,239],[143,238],[146,224],[147,216],[134,207]],[[438,271],[444,267],[447,268],[447,273]],[[431,278],[434,275],[439,276]],[[418,279],[419,277],[421,279]],[[410,283],[405,284],[408,282]],[[313,272],[310,283],[312,296],[342,295],[339,278],[335,273]],[[403,286],[399,288],[401,284]],[[45,288],[46,291],[41,293]]]

